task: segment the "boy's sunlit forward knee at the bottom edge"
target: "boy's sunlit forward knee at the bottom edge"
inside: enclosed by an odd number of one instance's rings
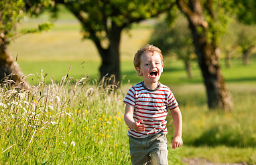
[[[168,164],[168,150],[157,150],[151,153],[152,165],[167,165]]]

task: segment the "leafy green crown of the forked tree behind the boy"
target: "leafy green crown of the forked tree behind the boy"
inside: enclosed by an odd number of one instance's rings
[[[58,2],[58,1],[57,1]],[[170,7],[170,1],[63,1],[82,23],[84,38],[110,39],[113,28],[155,17]],[[112,32],[111,32],[112,31]],[[109,42],[109,41],[107,41]]]

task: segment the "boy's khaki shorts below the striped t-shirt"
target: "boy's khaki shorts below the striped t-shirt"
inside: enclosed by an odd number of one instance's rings
[[[129,144],[133,165],[168,164],[166,134],[156,134],[147,138],[129,136]]]

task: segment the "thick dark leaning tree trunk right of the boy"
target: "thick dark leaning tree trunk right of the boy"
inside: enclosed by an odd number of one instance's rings
[[[182,0],[177,0],[177,5],[186,15],[192,31],[193,43],[198,57],[198,64],[204,77],[204,85],[208,98],[208,108],[232,110],[233,101],[231,94],[225,88],[218,61],[218,48],[214,38],[209,42],[206,37],[208,24],[203,21],[203,12],[199,0],[190,1],[189,5]],[[191,9],[190,9],[191,7]],[[211,13],[212,14],[212,13]],[[198,31],[198,28],[204,31]],[[212,33],[214,36],[214,34]]]

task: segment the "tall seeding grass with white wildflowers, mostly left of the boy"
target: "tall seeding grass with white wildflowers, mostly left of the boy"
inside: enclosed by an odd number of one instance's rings
[[[29,90],[0,90],[0,164],[131,164],[123,121],[128,86],[37,77]],[[170,164],[181,164],[170,153]]]

